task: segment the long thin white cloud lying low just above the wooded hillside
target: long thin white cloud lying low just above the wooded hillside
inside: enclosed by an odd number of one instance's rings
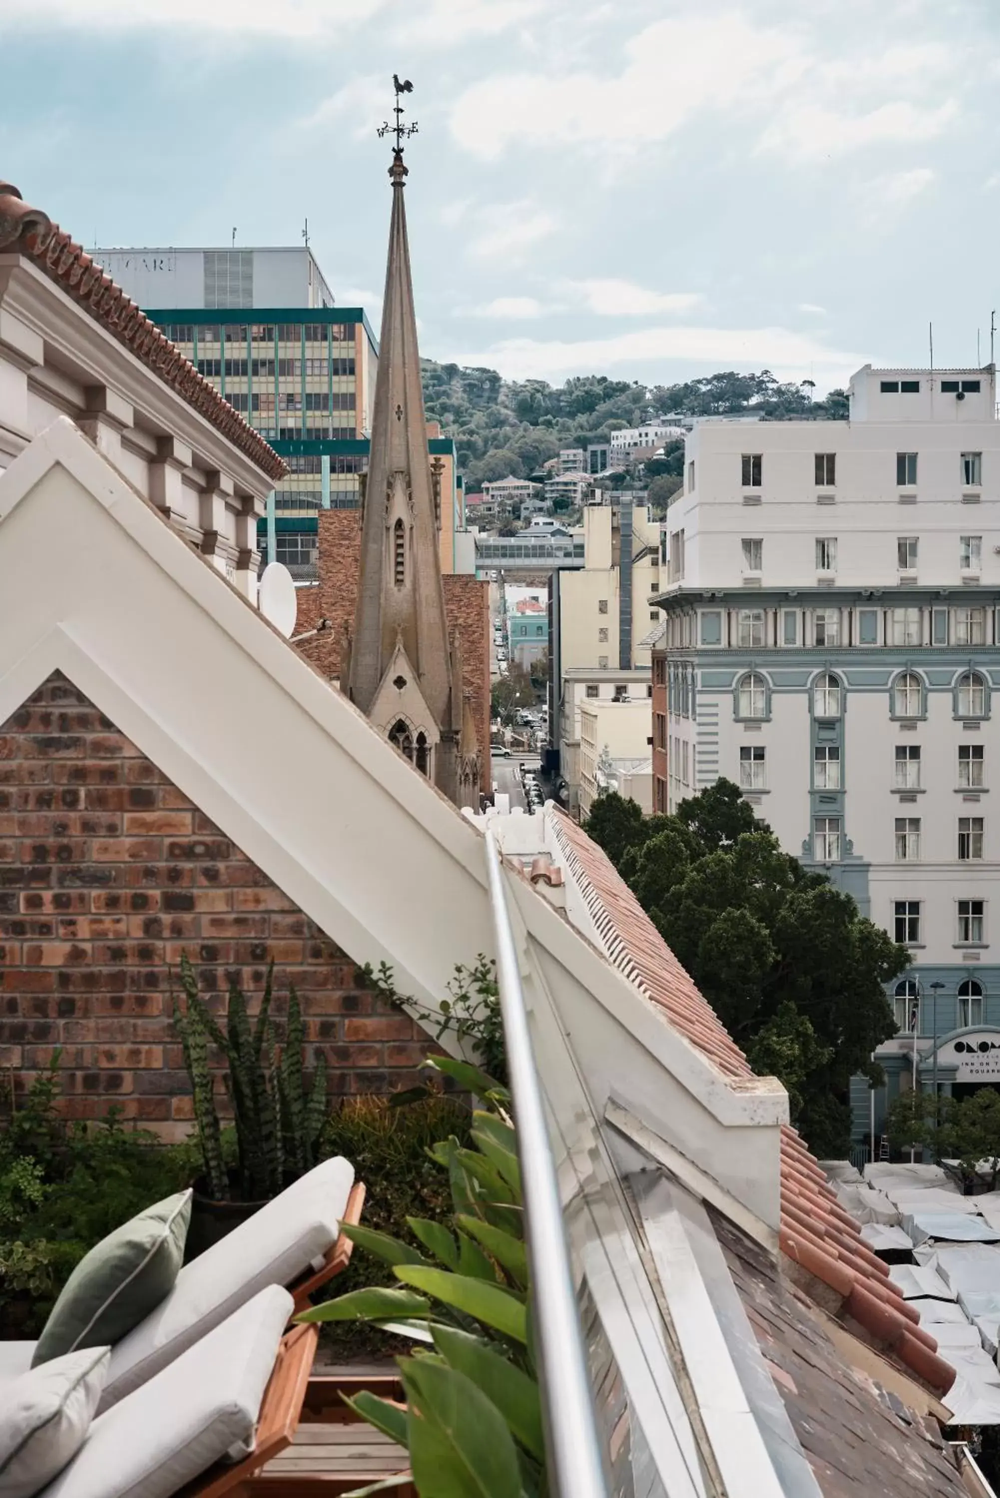
[[[456,363],[486,366],[508,379],[550,379],[613,366],[691,361],[706,369],[769,369],[778,376],[843,380],[865,357],[828,349],[789,328],[643,328],[610,339],[504,339],[486,349],[451,355]]]

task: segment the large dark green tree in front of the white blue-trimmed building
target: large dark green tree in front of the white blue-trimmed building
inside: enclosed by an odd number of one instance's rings
[[[873,1052],[895,1034],[885,984],[909,965],[906,948],[783,852],[732,780],[675,816],[643,819],[628,806],[601,797],[588,831],[751,1065],[786,1082],[810,1144],[843,1153],[850,1077],[879,1079]]]

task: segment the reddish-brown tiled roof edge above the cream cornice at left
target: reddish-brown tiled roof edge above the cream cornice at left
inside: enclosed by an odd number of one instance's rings
[[[259,431],[240,416],[198,373],[154,322],[40,208],[30,208],[10,183],[0,180],[0,250],[18,250],[57,282],[96,322],[154,374],[171,385],[234,446],[271,479],[285,476],[285,463]]]

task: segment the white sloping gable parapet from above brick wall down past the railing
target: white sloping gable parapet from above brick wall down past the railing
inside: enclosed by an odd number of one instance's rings
[[[63,671],[354,962],[390,963],[424,1004],[493,951],[481,833],[67,418],[0,473],[0,722]],[[733,1088],[526,879],[505,882],[528,1002],[552,999],[595,1116],[627,1101],[777,1227],[784,1092]]]

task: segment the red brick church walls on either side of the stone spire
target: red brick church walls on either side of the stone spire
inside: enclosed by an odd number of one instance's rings
[[[316,539],[319,583],[316,587],[300,590],[300,596],[307,593],[307,599],[297,628],[315,629],[321,619],[328,619],[331,629],[313,640],[304,640],[298,649],[324,676],[333,679],[340,676],[345,629],[354,628],[361,571],[361,511],[321,511]],[[480,749],[489,753],[489,583],[480,583],[478,578],[460,572],[445,572],[441,581],[448,631],[457,631],[462,641],[462,677],[466,692],[471,694]]]

